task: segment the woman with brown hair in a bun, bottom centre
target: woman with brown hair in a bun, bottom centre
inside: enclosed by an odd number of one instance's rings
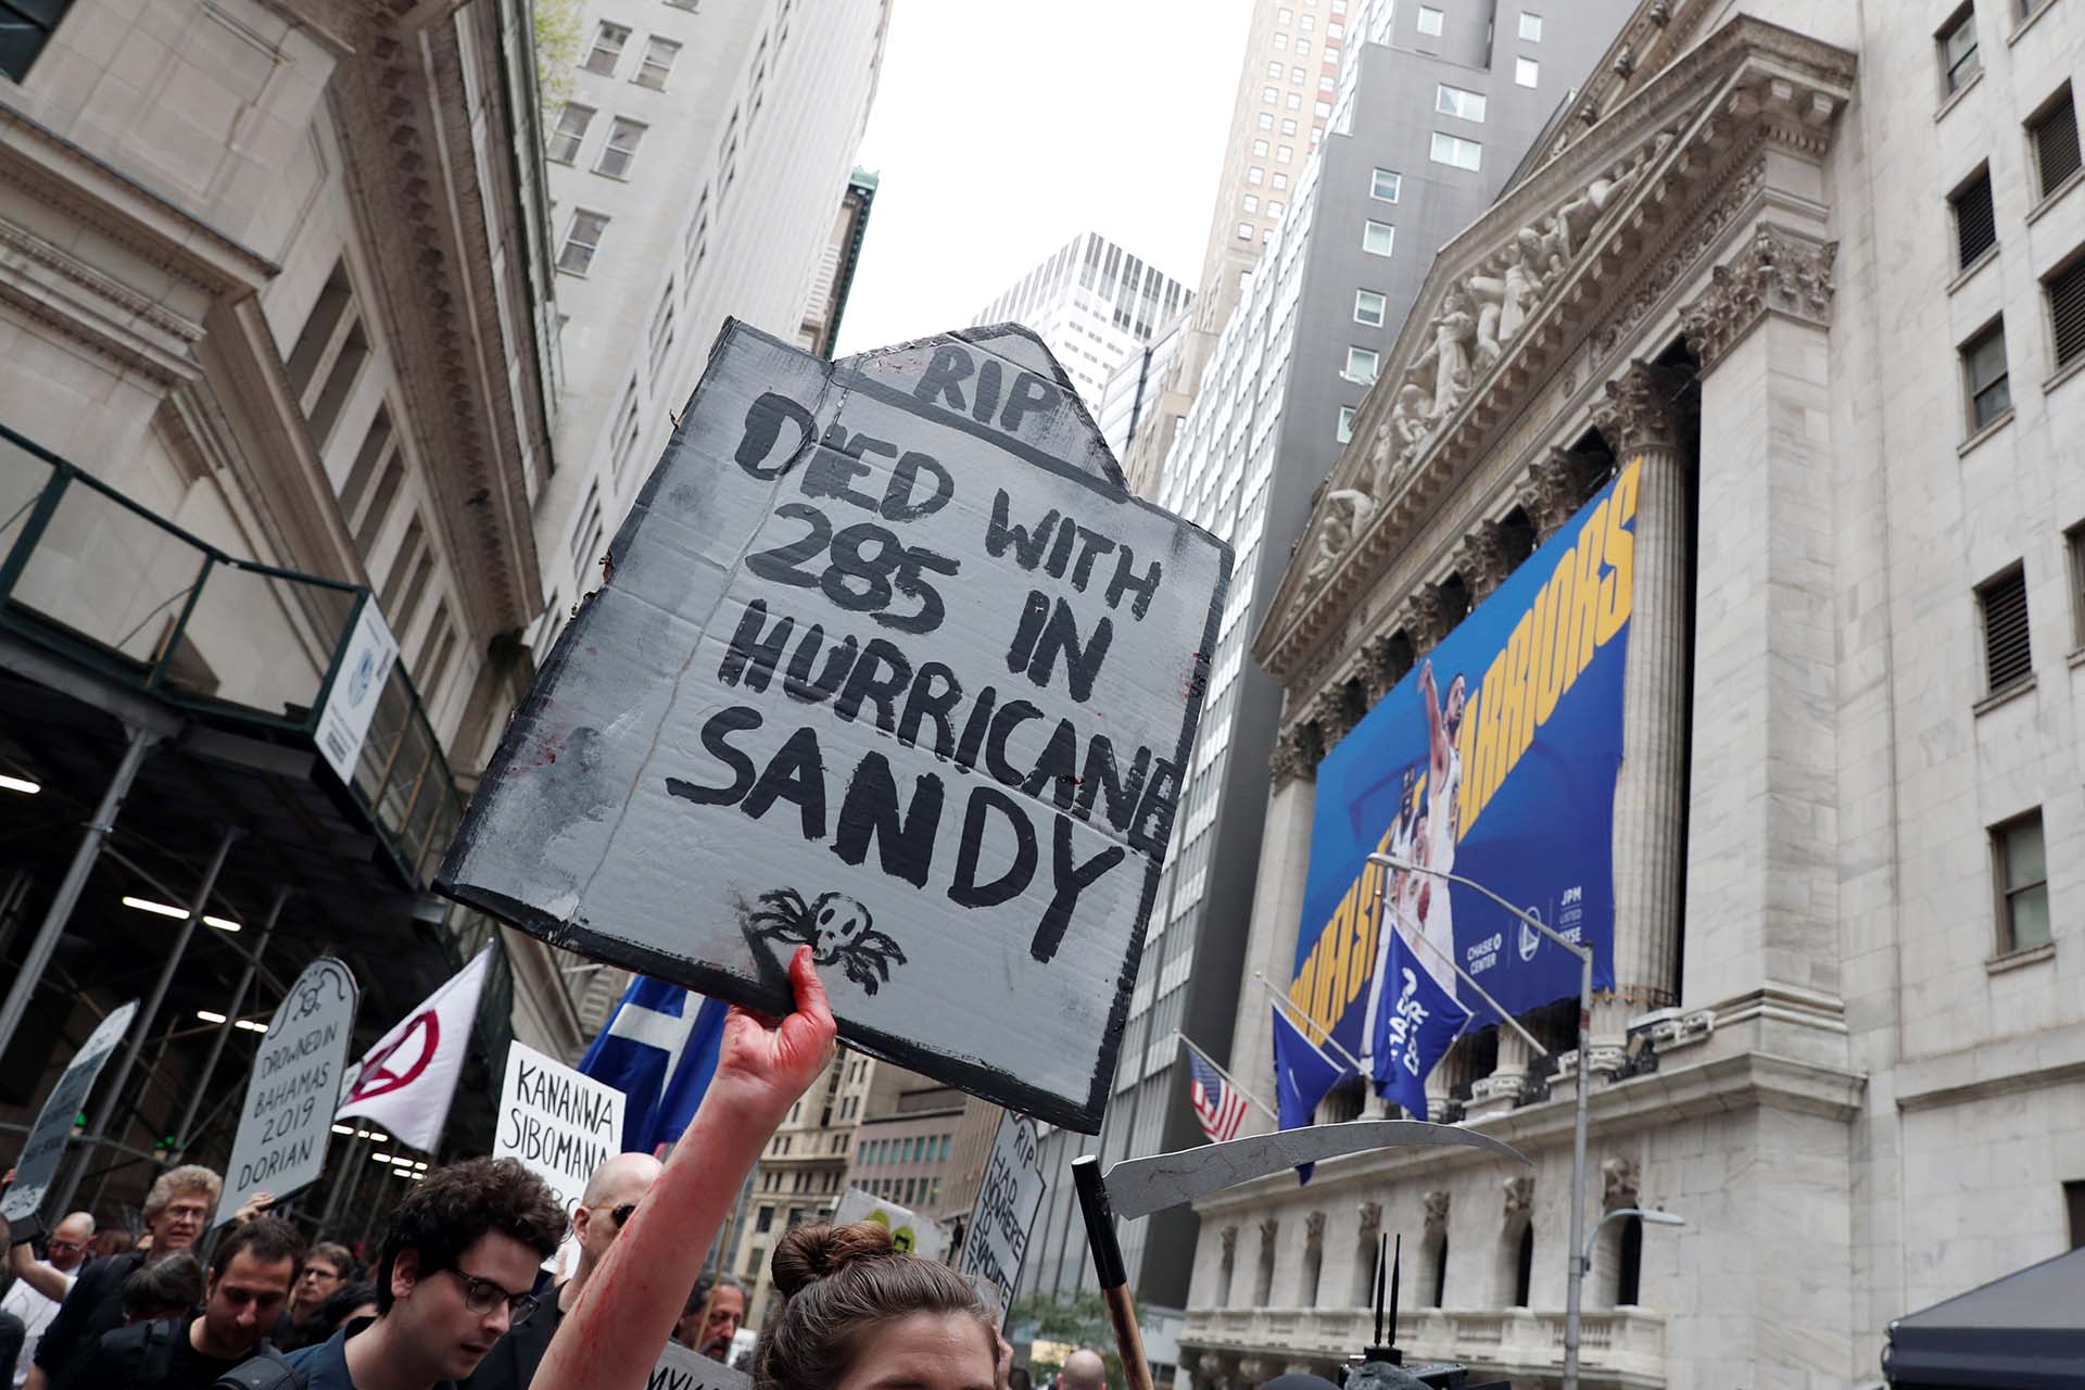
[[[995,1390],[1005,1344],[970,1284],[890,1230],[799,1225],[771,1261],[788,1302],[753,1350],[755,1390]]]

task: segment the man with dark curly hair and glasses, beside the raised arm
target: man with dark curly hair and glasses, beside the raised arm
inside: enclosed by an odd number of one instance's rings
[[[436,1169],[392,1213],[377,1315],[290,1352],[290,1367],[304,1390],[452,1386],[534,1311],[536,1265],[563,1234],[550,1188],[513,1159]]]

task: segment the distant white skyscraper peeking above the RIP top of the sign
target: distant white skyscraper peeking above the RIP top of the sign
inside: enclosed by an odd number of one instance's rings
[[[1084,231],[1013,281],[972,325],[1032,329],[1072,375],[1086,408],[1099,413],[1107,377],[1191,298],[1186,286],[1155,265]]]

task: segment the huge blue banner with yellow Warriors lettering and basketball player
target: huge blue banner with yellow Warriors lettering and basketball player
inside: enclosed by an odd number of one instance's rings
[[[1633,592],[1637,463],[1626,465],[1443,638],[1318,765],[1309,879],[1289,998],[1364,1067],[1389,1052],[1391,929],[1466,1009],[1447,961],[1514,1013],[1578,992],[1578,963],[1468,877],[1591,942],[1614,988],[1614,777]],[[1426,1059],[1426,1069],[1434,1059]],[[1276,1059],[1280,1063],[1280,1059]]]

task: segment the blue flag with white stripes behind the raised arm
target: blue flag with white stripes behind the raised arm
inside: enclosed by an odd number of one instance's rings
[[[717,1071],[723,1000],[638,975],[609,1015],[609,1025],[580,1059],[580,1071],[628,1096],[623,1152],[655,1152],[694,1119]]]

